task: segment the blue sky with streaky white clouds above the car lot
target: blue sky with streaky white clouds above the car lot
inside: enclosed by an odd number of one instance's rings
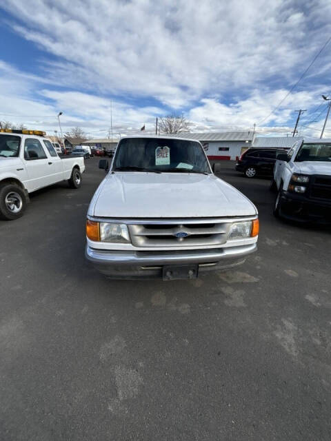
[[[331,94],[331,3],[247,0],[3,0],[0,119],[90,137],[154,130],[183,113],[191,130],[317,135]],[[314,112],[314,110],[317,110]],[[308,127],[304,127],[308,125]],[[330,130],[331,125],[326,130]]]

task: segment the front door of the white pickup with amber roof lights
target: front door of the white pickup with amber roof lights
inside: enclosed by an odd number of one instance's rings
[[[28,173],[26,187],[33,192],[50,184],[48,158],[39,139],[26,138],[24,141],[24,163]]]

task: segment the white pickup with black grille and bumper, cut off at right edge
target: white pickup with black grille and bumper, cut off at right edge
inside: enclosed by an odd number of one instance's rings
[[[331,139],[304,139],[274,165],[274,215],[331,224]]]

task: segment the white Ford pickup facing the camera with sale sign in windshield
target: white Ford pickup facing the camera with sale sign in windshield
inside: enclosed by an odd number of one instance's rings
[[[214,176],[201,143],[119,141],[86,221],[86,258],[110,278],[195,278],[257,249],[256,207]]]

